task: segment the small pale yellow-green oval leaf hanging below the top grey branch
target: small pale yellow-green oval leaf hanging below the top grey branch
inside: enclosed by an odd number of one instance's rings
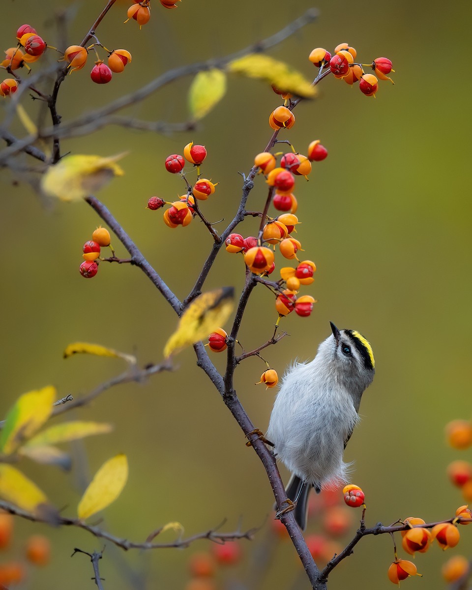
[[[188,104],[192,117],[202,119],[218,104],[226,93],[226,74],[213,68],[196,74],[188,93]]]

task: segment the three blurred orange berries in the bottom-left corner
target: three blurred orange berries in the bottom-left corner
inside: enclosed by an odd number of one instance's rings
[[[14,518],[11,514],[0,512],[0,550],[8,549],[12,543]],[[51,543],[44,535],[31,535],[24,547],[24,557],[34,566],[45,566],[51,557]],[[24,559],[0,563],[0,585],[2,588],[19,584],[29,576]]]

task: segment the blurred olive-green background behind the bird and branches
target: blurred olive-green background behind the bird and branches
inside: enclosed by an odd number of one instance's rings
[[[24,22],[51,45],[58,43],[54,15],[60,9],[70,17],[62,33],[67,44],[78,43],[105,2],[3,4],[0,38],[7,48]],[[152,18],[139,31],[134,21],[123,25],[128,3],[117,1],[97,34],[106,47],[129,50],[132,64],[106,86],[90,81],[87,64],[61,87],[58,111],[64,121],[70,120],[138,89],[168,68],[239,50],[312,5],[305,0],[182,0],[178,10],[168,11],[153,1]],[[468,451],[447,448],[443,432],[445,422],[470,415],[472,83],[464,51],[472,11],[469,2],[445,7],[442,2],[407,0],[335,0],[318,8],[317,22],[270,55],[313,77],[310,51],[320,46],[332,51],[348,41],[364,63],[381,55],[391,58],[395,86],[383,82],[376,99],[369,99],[329,77],[320,84],[319,99],[296,109],[297,122],[284,137],[301,153],[313,139],[321,139],[329,150],[329,157],[314,166],[310,181],[300,179],[296,186],[303,221],[298,237],[304,257],[318,268],[316,281],[304,292],[319,302],[308,319],[293,314],[284,320],[281,327],[290,338],[264,356],[279,373],[294,358],[312,358],[329,334],[329,320],[368,337],[376,378],[364,395],[362,423],[346,450],[346,460],[356,463],[353,481],[366,493],[368,525],[407,516],[440,520],[463,503],[448,483],[445,467],[454,458],[470,457]],[[54,58],[51,51],[49,59]],[[33,64],[33,72],[40,67],[41,62]],[[186,120],[190,81],[179,80],[119,114]],[[2,101],[2,108],[7,104]],[[40,113],[40,101],[31,103],[25,96],[23,104],[32,117]],[[162,136],[112,127],[64,141],[62,149],[100,155],[129,150],[124,177],[98,196],[183,299],[211,248],[211,237],[196,221],[172,231],[159,211],[145,209],[152,195],[172,201],[182,194],[179,179],[165,172],[164,159],[182,153],[191,140],[207,146],[204,175],[220,184],[202,209],[211,220],[228,220],[240,199],[238,171],[247,173],[266,145],[271,135],[268,115],[277,105],[277,97],[262,83],[232,78],[227,96],[195,132]],[[18,123],[11,129],[23,133]],[[123,370],[118,359],[63,360],[68,343],[97,342],[135,353],[142,364],[159,362],[163,343],[176,326],[170,307],[137,268],[103,264],[94,280],[83,280],[77,271],[81,247],[99,224],[96,214],[82,203],[45,204],[23,181],[24,176],[2,170],[1,415],[30,389],[52,383],[60,397],[80,396]],[[263,178],[258,177],[248,208],[261,209],[265,196]],[[257,219],[248,218],[241,233],[254,234],[257,225]],[[112,243],[118,255],[126,256],[117,240]],[[240,257],[222,251],[205,288],[233,284],[240,289],[243,281]],[[270,337],[275,319],[270,293],[257,289],[240,332],[247,350]],[[224,366],[221,357],[212,355],[218,368]],[[237,587],[236,581],[247,584],[250,556],[270,534],[273,497],[260,461],[244,446],[237,424],[195,366],[193,351],[182,352],[177,365],[174,373],[116,387],[93,405],[60,418],[114,424],[112,434],[72,449],[76,467],[71,475],[27,461],[21,467],[56,506],[65,506],[65,515],[73,515],[83,486],[101,463],[126,453],[129,482],[104,512],[100,526],[136,541],[169,521],[181,522],[189,535],[225,518],[222,530],[262,526],[253,543],[241,543],[247,556],[241,567],[218,582],[224,588],[232,579]],[[274,391],[254,386],[263,370],[263,363],[251,358],[236,376],[242,404],[261,430],[267,427],[274,398]],[[0,560],[19,555],[22,540],[32,532],[50,536],[53,560],[43,571],[31,573],[24,588],[75,590],[93,584],[86,556],[70,555],[74,547],[92,552],[103,543],[80,530],[17,522],[15,545]],[[460,545],[446,555],[434,547],[418,556],[415,563],[424,581],[406,583],[442,588],[441,563],[453,552],[471,554],[470,530],[463,527],[461,533]],[[172,538],[173,533],[166,533],[162,540]],[[106,545],[101,575],[106,588],[116,590],[183,588],[189,555],[209,549],[208,542],[199,542],[186,550],[124,553]],[[308,588],[293,546],[284,543],[276,555],[259,585]],[[386,570],[392,559],[388,536],[369,537],[332,573],[330,588],[389,588]],[[147,581],[138,582],[136,572]]]

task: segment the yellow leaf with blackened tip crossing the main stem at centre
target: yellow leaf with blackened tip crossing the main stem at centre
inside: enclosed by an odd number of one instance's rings
[[[164,348],[165,358],[208,337],[222,326],[230,317],[233,298],[233,287],[222,287],[196,297],[182,313],[176,331],[167,341]]]

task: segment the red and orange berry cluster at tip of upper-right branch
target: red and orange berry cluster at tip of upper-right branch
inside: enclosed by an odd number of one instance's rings
[[[392,70],[391,60],[386,57],[377,57],[371,64],[360,64],[354,61],[356,56],[355,48],[350,47],[348,43],[340,43],[335,47],[333,56],[326,49],[317,47],[310,53],[309,60],[317,68],[329,68],[335,78],[344,80],[350,86],[358,82],[359,90],[365,96],[375,97],[378,90],[378,79],[390,80],[392,84],[394,83],[392,78],[386,75],[395,71]],[[376,76],[366,74],[363,69],[365,67],[372,68]]]

